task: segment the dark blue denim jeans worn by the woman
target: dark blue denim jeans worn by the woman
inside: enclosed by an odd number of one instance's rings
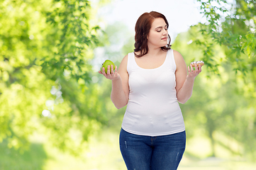
[[[186,146],[186,132],[156,137],[121,129],[119,144],[128,170],[174,170]]]

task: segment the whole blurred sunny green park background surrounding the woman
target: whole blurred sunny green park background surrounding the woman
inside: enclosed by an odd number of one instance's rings
[[[256,169],[255,1],[3,0],[0,2],[0,169],[125,170],[126,108],[98,74],[133,52],[134,26],[163,13],[172,49],[206,64],[181,104],[179,170]]]

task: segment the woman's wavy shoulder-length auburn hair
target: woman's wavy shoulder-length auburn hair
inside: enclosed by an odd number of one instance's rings
[[[137,20],[135,24],[135,44],[134,44],[134,54],[135,52],[140,52],[136,57],[143,57],[148,53],[148,34],[150,33],[150,28],[152,22],[155,18],[163,18],[165,23],[167,24],[167,28],[169,28],[169,23],[162,13],[158,13],[155,11],[151,11],[150,13],[143,13]],[[162,50],[167,51],[171,49],[170,45],[171,38],[168,34],[168,44],[164,47],[161,47]]]

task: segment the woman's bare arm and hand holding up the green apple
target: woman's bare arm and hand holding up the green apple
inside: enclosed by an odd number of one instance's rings
[[[102,72],[99,71],[100,74],[103,74],[107,79],[111,79],[112,81],[112,91],[111,91],[111,101],[116,106],[116,108],[123,108],[128,103],[129,96],[129,86],[128,86],[128,72],[127,72],[127,60],[128,55],[123,58],[118,71],[117,67],[115,68],[115,72],[113,72],[113,66],[108,66],[107,74],[104,72],[104,68]],[[110,74],[110,69],[113,74]]]

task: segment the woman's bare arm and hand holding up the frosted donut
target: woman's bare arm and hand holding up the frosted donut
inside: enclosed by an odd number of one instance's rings
[[[187,66],[182,57],[182,55],[174,51],[174,59],[176,62],[176,91],[177,91],[177,100],[179,103],[186,103],[189,98],[192,96],[194,79],[201,72],[201,65],[199,67],[195,67],[195,70],[190,64],[189,74],[187,74]]]

